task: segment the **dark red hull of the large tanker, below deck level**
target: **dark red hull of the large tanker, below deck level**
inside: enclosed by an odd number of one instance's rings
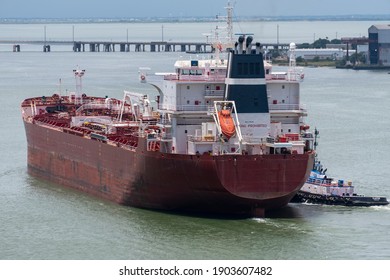
[[[314,154],[180,155],[123,149],[24,122],[28,170],[83,192],[140,208],[263,216],[286,205]]]

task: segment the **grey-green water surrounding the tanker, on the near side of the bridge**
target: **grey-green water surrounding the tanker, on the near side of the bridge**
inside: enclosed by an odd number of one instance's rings
[[[265,219],[220,219],[134,209],[27,174],[19,104],[74,89],[120,98],[138,67],[173,70],[183,54],[0,52],[0,259],[389,259],[390,207],[290,204]],[[328,173],[359,193],[390,197],[390,75],[305,69],[301,102],[321,136]]]

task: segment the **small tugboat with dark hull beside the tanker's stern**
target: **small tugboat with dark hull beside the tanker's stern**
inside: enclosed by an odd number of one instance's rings
[[[318,130],[315,130],[314,146],[317,146]],[[351,181],[334,179],[326,175],[320,161],[315,160],[313,170],[303,187],[293,197],[291,202],[307,202],[314,204],[343,206],[384,206],[388,205],[386,197],[365,196],[355,193]]]

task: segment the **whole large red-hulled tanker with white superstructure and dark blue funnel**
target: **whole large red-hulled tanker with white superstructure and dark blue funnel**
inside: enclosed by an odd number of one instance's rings
[[[240,37],[228,59],[178,61],[150,83],[154,107],[139,93],[86,95],[74,70],[75,92],[21,104],[28,171],[123,205],[263,217],[291,200],[314,161],[296,97],[268,96],[266,72],[260,44]]]

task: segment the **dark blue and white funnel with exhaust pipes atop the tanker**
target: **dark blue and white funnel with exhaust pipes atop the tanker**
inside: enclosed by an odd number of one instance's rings
[[[246,49],[241,54],[229,53],[224,100],[234,101],[235,112],[239,112],[234,115],[237,115],[236,128],[241,130],[243,143],[256,143],[268,137],[271,128],[264,58],[262,52],[252,53],[252,37],[240,39],[241,46],[245,41]],[[260,44],[256,46],[260,49]]]

